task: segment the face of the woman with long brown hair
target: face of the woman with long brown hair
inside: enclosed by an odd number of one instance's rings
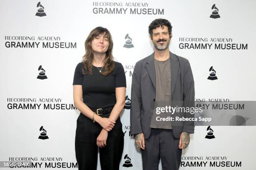
[[[97,35],[92,40],[92,51],[98,53],[105,53],[108,50],[109,42],[106,34]]]

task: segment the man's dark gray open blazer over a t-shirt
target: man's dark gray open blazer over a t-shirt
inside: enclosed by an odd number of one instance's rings
[[[178,107],[195,107],[195,87],[189,61],[170,52],[172,104]],[[148,139],[156,97],[156,73],[154,53],[136,62],[131,87],[131,134],[143,133]],[[182,102],[181,102],[182,101]],[[173,106],[173,107],[175,107]],[[175,114],[175,113],[174,113]],[[179,117],[194,117],[190,113],[179,113]],[[172,122],[173,123],[173,122]],[[172,126],[175,138],[182,132],[194,133],[193,122]]]

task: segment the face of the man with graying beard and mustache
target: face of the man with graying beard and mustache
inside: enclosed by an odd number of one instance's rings
[[[165,50],[170,44],[168,27],[163,25],[153,30],[152,42],[157,50]]]

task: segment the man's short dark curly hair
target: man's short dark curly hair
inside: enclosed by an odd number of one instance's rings
[[[158,28],[158,27],[163,27],[163,25],[165,25],[168,28],[170,38],[172,37],[172,25],[171,25],[171,23],[168,20],[165,20],[163,18],[159,18],[159,19],[155,19],[154,21],[152,21],[152,23],[150,23],[150,25],[148,26],[148,33],[149,33],[151,39],[153,38],[153,30]]]

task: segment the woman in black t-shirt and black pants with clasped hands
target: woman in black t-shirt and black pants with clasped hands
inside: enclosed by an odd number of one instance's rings
[[[120,112],[125,105],[123,66],[113,61],[113,41],[106,28],[93,29],[85,41],[86,53],[74,73],[77,119],[75,151],[79,170],[96,170],[100,151],[102,170],[118,170],[123,153]]]

